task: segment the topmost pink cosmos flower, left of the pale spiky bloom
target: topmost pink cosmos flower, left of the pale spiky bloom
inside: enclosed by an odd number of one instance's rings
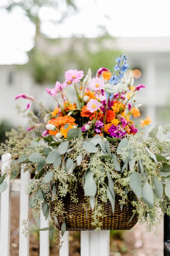
[[[71,83],[77,83],[80,82],[80,79],[83,77],[84,72],[82,70],[77,71],[77,69],[70,69],[65,72],[65,83],[71,84]]]

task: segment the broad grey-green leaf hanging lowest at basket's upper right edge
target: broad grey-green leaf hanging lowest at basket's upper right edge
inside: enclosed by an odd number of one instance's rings
[[[149,206],[150,209],[153,207],[154,198],[153,198],[153,189],[148,182],[143,185],[142,188],[142,199]]]

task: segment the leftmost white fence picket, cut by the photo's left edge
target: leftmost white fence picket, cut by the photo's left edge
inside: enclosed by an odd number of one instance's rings
[[[10,157],[10,154],[2,155],[2,174],[9,164]],[[10,254],[11,197],[9,177],[7,178],[7,183],[7,189],[1,194],[0,206],[0,255],[3,256],[9,256]]]

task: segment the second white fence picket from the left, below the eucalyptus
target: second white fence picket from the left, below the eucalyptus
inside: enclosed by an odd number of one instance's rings
[[[27,219],[28,216],[28,202],[29,195],[25,194],[25,185],[29,184],[30,173],[28,171],[24,172],[21,169],[20,178],[20,216],[19,216],[19,256],[29,256],[29,236],[26,238],[21,232],[23,231],[22,221]]]

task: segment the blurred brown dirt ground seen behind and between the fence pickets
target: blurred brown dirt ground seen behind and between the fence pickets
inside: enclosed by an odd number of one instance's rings
[[[11,243],[10,256],[18,256],[19,244],[19,193],[11,197]],[[30,222],[30,255],[39,256],[39,232]],[[70,231],[69,256],[80,256],[80,232]],[[50,243],[50,256],[58,256],[55,240]],[[131,230],[110,232],[110,256],[163,256],[163,227],[147,233],[138,223]],[[104,255],[103,255],[104,256]]]

